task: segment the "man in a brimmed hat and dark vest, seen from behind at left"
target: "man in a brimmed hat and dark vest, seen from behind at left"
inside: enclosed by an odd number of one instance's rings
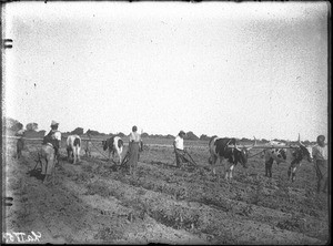
[[[51,122],[51,131],[43,137],[41,154],[47,157],[48,163],[42,162],[42,175],[46,175],[44,183],[48,183],[51,174],[53,174],[54,162],[59,155],[61,133],[58,131],[59,123]]]

